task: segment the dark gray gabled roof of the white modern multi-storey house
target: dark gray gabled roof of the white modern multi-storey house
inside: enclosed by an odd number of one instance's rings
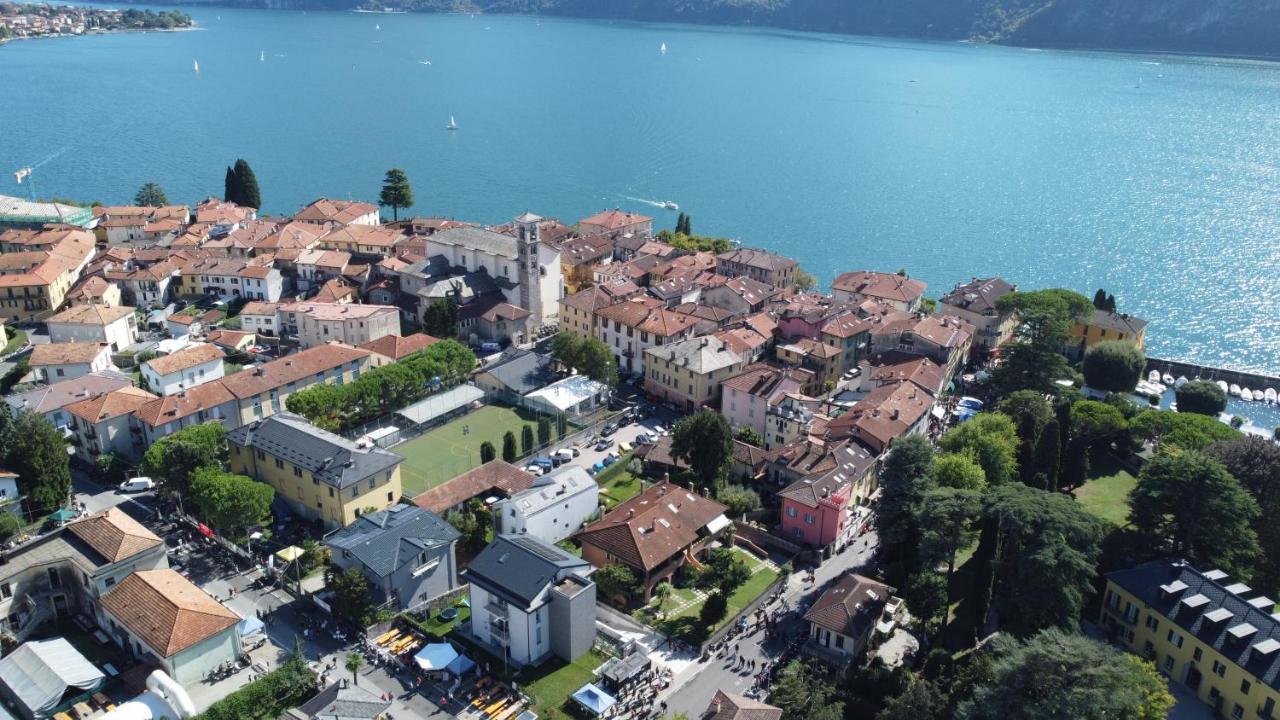
[[[498,536],[463,571],[467,582],[529,607],[549,585],[591,565],[532,536]]]

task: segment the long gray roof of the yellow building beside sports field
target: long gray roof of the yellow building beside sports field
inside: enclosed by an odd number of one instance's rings
[[[292,413],[241,425],[228,433],[227,439],[288,460],[338,489],[390,470],[404,460],[378,446],[357,447],[355,442],[321,430]]]

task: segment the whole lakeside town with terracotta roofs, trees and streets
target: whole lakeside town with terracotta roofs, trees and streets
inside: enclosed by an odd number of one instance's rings
[[[0,717],[1277,716],[1280,429],[1124,299],[259,192],[0,197]]]

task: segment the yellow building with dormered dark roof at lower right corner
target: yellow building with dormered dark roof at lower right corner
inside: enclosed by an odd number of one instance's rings
[[[1100,624],[1221,717],[1280,717],[1280,616],[1275,601],[1183,561],[1107,575]]]

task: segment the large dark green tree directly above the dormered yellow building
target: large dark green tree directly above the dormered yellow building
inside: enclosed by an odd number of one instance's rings
[[[1217,460],[1193,450],[1158,452],[1138,474],[1129,506],[1129,523],[1149,555],[1248,579],[1260,552],[1258,503]]]

